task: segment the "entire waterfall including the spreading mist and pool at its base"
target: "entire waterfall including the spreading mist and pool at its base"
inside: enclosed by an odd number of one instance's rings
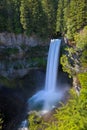
[[[45,87],[28,100],[30,111],[36,110],[46,113],[52,110],[62,99],[67,89],[67,87],[61,89],[61,85],[57,83],[60,44],[60,39],[52,39],[50,42]]]

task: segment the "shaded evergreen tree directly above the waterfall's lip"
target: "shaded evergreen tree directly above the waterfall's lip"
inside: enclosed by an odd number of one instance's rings
[[[43,11],[46,14],[45,20],[47,20],[47,32],[49,37],[55,33],[56,28],[56,10],[57,0],[42,0]]]

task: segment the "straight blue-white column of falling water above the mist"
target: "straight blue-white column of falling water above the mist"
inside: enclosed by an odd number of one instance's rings
[[[46,91],[55,91],[57,69],[59,64],[60,42],[61,41],[59,39],[54,39],[51,40],[50,43],[45,81]]]

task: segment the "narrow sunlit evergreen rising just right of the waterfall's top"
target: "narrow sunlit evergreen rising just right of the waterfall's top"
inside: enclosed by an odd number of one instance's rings
[[[70,0],[59,0],[57,8],[56,31],[66,33]]]

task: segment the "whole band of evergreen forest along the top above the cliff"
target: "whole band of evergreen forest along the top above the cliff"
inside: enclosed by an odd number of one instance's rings
[[[87,25],[86,0],[1,0],[0,32],[50,37],[56,32],[73,39]]]

